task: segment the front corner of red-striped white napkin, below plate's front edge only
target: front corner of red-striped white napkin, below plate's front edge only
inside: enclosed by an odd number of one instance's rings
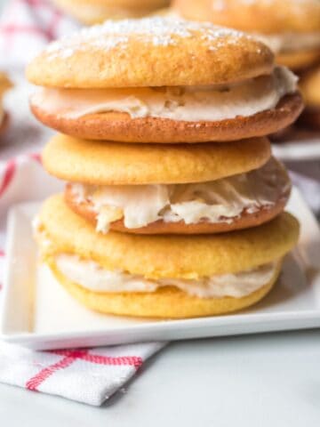
[[[100,406],[162,343],[32,351],[0,342],[0,382]]]

